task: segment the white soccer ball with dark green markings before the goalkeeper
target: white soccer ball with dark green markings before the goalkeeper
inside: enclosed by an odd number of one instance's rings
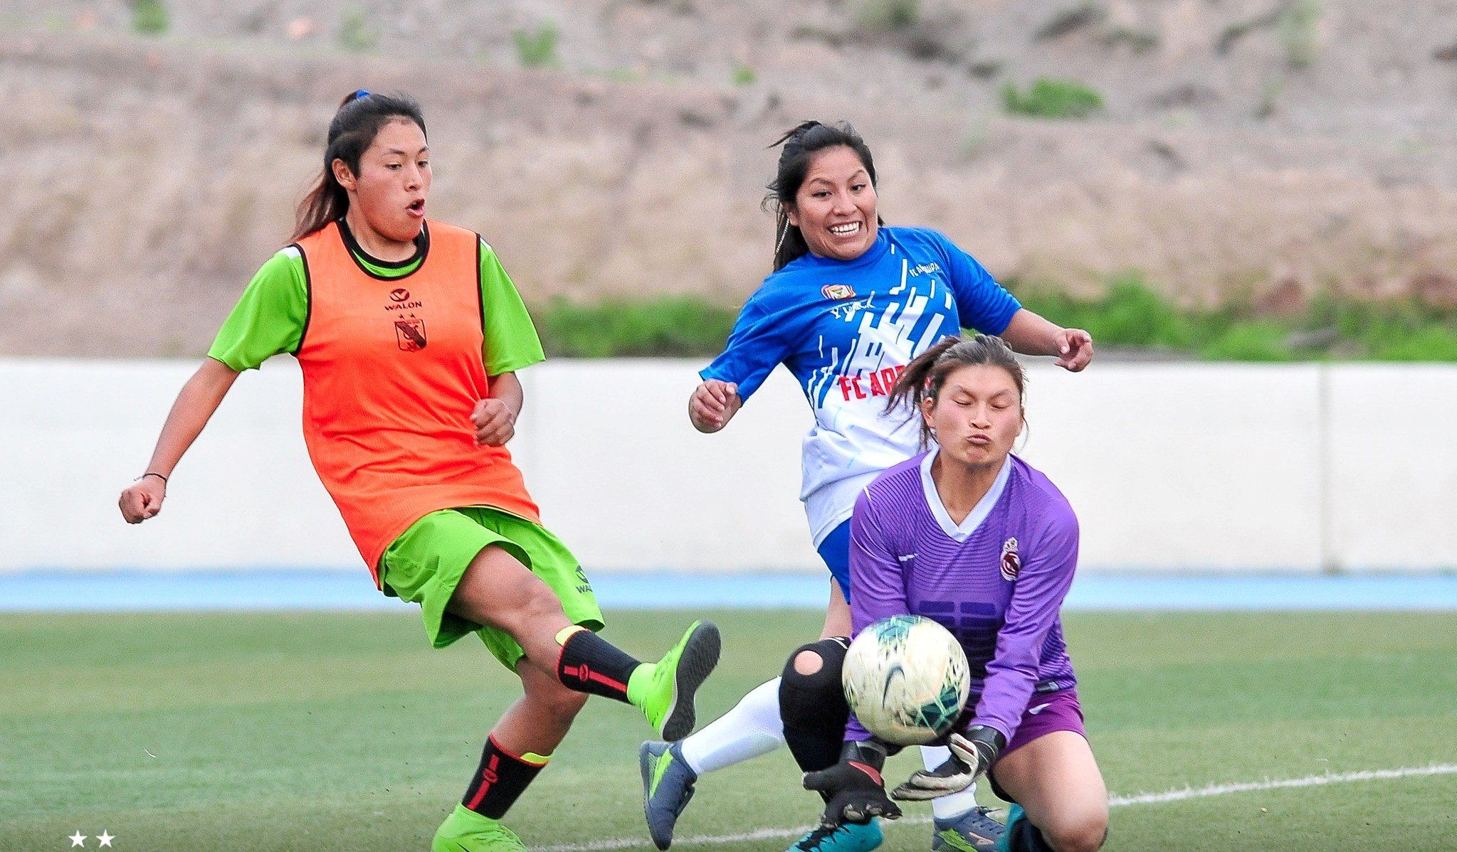
[[[899,615],[870,625],[845,654],[845,701],[867,731],[896,746],[946,735],[972,689],[966,651],[928,618]]]

